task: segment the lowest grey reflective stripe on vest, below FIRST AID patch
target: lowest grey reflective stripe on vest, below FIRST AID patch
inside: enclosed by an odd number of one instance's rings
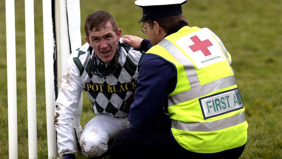
[[[205,122],[205,123],[185,123],[182,121],[172,120],[171,127],[185,131],[207,132],[207,131],[216,131],[216,130],[232,127],[241,124],[244,121],[246,121],[245,112],[242,112],[235,116],[231,116],[216,121]]]

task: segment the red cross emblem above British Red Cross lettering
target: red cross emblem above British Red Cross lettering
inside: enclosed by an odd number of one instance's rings
[[[197,35],[190,38],[195,44],[189,46],[193,52],[201,50],[205,56],[211,55],[207,47],[212,46],[211,41],[209,39],[201,41]]]

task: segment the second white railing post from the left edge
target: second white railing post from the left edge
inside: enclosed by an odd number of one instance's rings
[[[27,73],[28,155],[37,158],[34,2],[25,0],[25,47]]]

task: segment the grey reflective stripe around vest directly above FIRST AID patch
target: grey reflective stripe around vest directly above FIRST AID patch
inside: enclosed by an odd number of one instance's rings
[[[202,85],[201,87],[192,88],[188,91],[181,92],[168,97],[168,106],[183,103],[185,101],[204,96],[218,89],[229,87],[235,84],[236,84],[236,80],[234,76],[220,78],[216,81],[212,81],[210,83]]]

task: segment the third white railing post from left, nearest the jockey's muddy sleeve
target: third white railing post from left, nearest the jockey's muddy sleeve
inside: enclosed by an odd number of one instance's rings
[[[45,71],[45,99],[47,120],[48,158],[57,157],[56,131],[54,127],[55,114],[55,86],[54,59],[55,39],[53,34],[52,6],[50,0],[42,1],[43,8],[43,38],[44,38],[44,71]]]

